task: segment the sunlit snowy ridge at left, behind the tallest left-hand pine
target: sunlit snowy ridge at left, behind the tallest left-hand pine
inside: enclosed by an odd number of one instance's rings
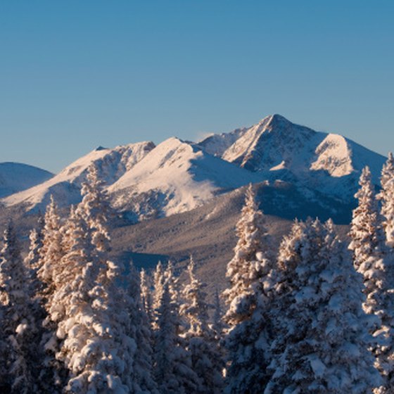
[[[65,167],[64,170],[48,181],[8,196],[1,202],[6,206],[23,203],[27,205],[27,209],[42,208],[53,194],[56,201],[62,206],[77,203],[80,201],[80,186],[91,163],[96,163],[101,178],[107,184],[112,184],[144,158],[154,147],[153,142],[146,141],[117,146],[113,149],[96,148],[96,150]]]

